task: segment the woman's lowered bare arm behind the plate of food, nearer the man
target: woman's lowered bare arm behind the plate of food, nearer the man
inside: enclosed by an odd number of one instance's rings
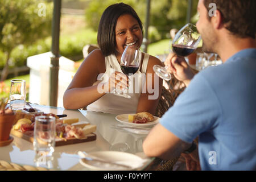
[[[142,88],[143,86],[146,88],[146,93],[142,93],[139,97],[137,113],[147,111],[154,115],[158,106],[159,98],[162,94],[163,80],[155,74],[153,70],[155,64],[163,65],[159,59],[150,56],[147,64],[146,84],[142,85]]]

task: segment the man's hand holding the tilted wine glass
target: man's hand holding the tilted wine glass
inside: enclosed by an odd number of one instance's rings
[[[170,53],[164,61],[164,64],[167,65],[168,71],[172,73],[177,80],[183,81],[186,86],[195,76],[195,73],[189,67],[184,57],[178,57],[175,53]]]

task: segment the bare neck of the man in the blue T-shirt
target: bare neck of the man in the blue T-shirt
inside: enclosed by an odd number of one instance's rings
[[[220,45],[218,45],[218,55],[225,63],[229,57],[233,56],[239,51],[247,48],[256,48],[256,41],[253,38],[237,38],[233,35],[228,35],[222,38]]]

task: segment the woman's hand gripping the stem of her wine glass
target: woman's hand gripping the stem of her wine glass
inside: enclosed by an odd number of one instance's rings
[[[129,78],[121,73],[121,72],[114,72],[110,75],[108,82],[104,84],[105,93],[112,92],[113,89],[126,89],[129,86]]]

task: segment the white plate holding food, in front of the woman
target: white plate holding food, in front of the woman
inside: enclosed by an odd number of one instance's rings
[[[124,125],[129,125],[129,126],[138,126],[138,127],[148,127],[148,126],[154,126],[157,123],[159,123],[160,118],[154,116],[155,121],[151,121],[151,122],[146,122],[146,123],[133,123],[133,122],[129,122],[128,120],[128,116],[129,115],[134,115],[134,114],[120,114],[117,115],[115,117],[115,119],[117,119],[117,121],[123,123]]]

